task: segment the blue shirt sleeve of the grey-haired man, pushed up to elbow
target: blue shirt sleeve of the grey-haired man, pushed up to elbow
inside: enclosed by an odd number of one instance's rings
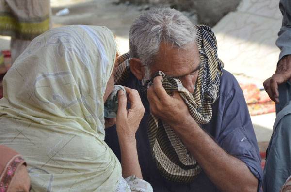
[[[254,128],[239,85],[224,97],[221,122],[220,146],[230,155],[246,164],[258,179],[258,191],[262,183],[261,159]]]

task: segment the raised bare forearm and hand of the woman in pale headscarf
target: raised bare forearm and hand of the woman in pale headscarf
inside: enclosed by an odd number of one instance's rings
[[[144,106],[138,92],[125,87],[128,97],[123,91],[118,92],[118,112],[116,117],[116,131],[121,151],[122,176],[131,175],[142,179],[142,172],[138,161],[135,133],[144,116]],[[126,109],[127,101],[131,108]]]

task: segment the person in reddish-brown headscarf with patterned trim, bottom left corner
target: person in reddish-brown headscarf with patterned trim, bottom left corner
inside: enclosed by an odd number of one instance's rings
[[[0,192],[28,192],[30,178],[22,156],[11,148],[0,145]]]

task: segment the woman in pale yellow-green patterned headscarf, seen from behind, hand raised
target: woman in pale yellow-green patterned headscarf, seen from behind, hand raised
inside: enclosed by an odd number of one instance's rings
[[[106,27],[65,26],[32,40],[4,77],[0,144],[24,156],[32,191],[152,190],[141,180],[135,132],[144,108],[133,89],[126,88],[129,110],[119,91],[116,119],[127,181],[104,142],[115,55]]]

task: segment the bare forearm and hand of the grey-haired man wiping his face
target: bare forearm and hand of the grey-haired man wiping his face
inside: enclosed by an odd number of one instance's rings
[[[152,114],[168,123],[221,191],[256,191],[258,179],[241,160],[229,155],[195,122],[180,95],[169,96],[161,76],[147,89]]]

